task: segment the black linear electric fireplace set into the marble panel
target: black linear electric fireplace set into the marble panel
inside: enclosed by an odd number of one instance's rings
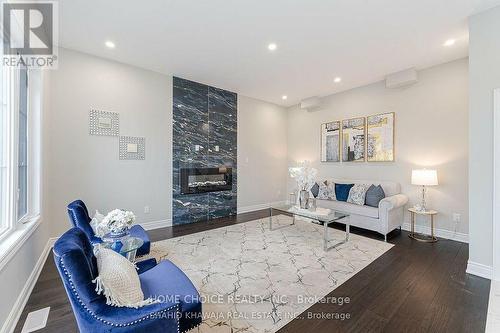
[[[181,194],[228,191],[233,186],[231,168],[182,168]]]

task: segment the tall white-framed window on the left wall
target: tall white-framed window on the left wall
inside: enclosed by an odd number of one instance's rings
[[[0,77],[0,239],[3,239],[39,215],[41,73],[0,64]]]

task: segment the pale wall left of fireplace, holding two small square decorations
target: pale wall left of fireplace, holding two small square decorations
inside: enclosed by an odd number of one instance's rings
[[[52,235],[70,227],[66,206],[134,211],[138,222],[168,224],[172,207],[172,80],[114,61],[61,49],[53,72],[50,142]],[[146,137],[144,161],[118,159],[118,137],[89,135],[89,110],[120,113],[120,134]],[[144,206],[151,212],[144,214]],[[91,212],[93,214],[93,212]]]

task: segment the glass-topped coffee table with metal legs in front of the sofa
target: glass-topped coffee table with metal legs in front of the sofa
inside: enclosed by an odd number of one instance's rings
[[[290,214],[293,216],[292,223],[295,224],[295,217],[300,216],[309,219],[313,223],[323,224],[323,249],[325,251],[346,243],[349,240],[349,214],[339,212],[333,209],[325,209],[318,207],[316,211],[301,209],[295,205],[271,205],[269,207],[269,230],[273,230],[273,212]],[[275,214],[276,215],[276,214]],[[328,225],[333,222],[345,224],[345,240],[329,247],[330,239],[328,238]]]

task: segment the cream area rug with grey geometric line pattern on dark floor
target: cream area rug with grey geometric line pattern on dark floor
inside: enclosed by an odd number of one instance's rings
[[[179,266],[200,292],[200,332],[275,332],[392,247],[351,234],[325,252],[323,226],[291,221],[278,215],[272,231],[264,218],[172,238],[151,254]]]

